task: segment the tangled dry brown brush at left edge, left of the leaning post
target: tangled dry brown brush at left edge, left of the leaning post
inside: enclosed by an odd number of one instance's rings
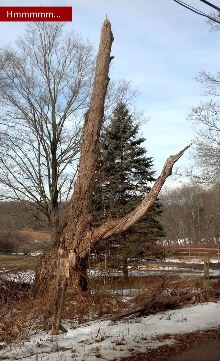
[[[28,340],[36,329],[51,329],[54,295],[45,292],[36,298],[30,285],[7,280],[1,286],[0,341],[17,343]]]

